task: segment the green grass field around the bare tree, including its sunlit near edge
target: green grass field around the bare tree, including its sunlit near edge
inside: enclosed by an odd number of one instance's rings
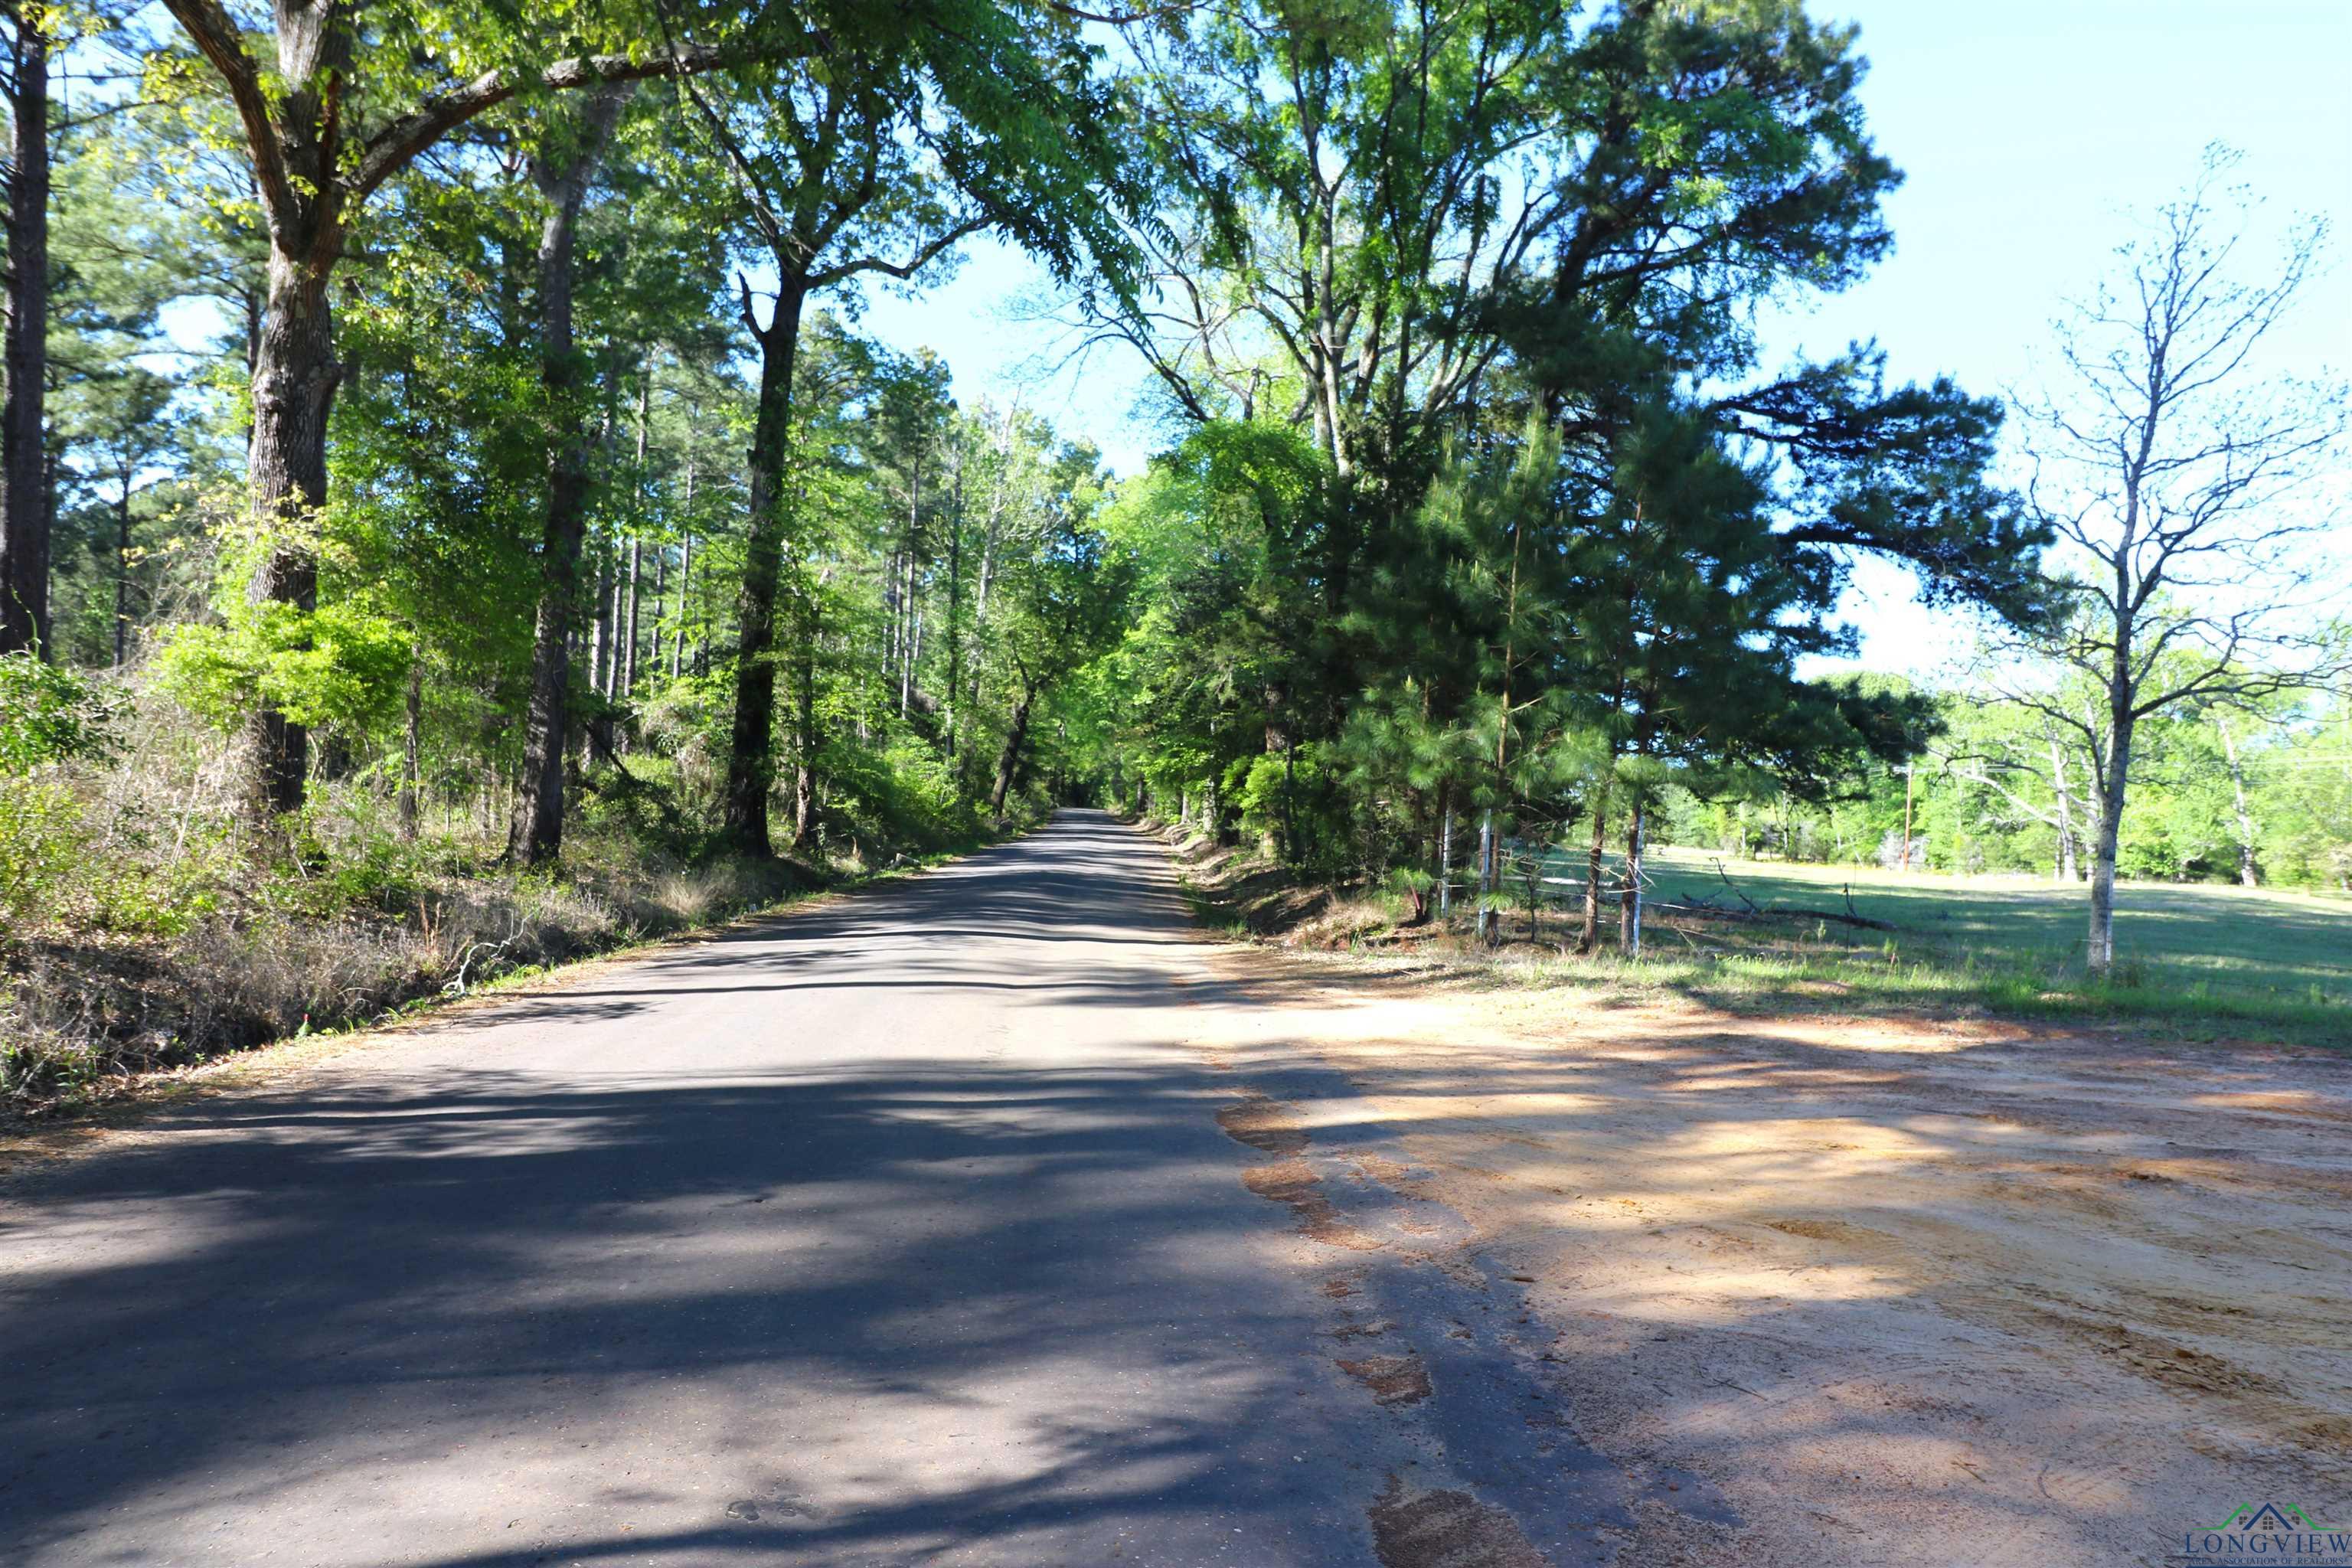
[[[1724,884],[1729,875],[1731,886]],[[1581,863],[1557,860],[1576,879]],[[1616,865],[1611,865],[1611,872]],[[2117,889],[2117,969],[2082,969],[2089,889],[2034,877],[1898,875],[1726,860],[1658,849],[1646,860],[1649,943],[1621,980],[1710,1001],[1966,1006],[2037,1018],[2114,1018],[2201,1039],[2352,1046],[2352,900],[2234,886]],[[1736,891],[1733,891],[1736,889]],[[1569,886],[1552,896],[1576,898]],[[1846,910],[1816,919],[1722,919],[1672,905]]]

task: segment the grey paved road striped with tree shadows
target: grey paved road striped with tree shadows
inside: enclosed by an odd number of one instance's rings
[[[1218,985],[1063,813],[35,1171],[0,1563],[1585,1561],[1609,1474],[1531,1460],[1508,1356],[1336,1366],[1185,1046]]]

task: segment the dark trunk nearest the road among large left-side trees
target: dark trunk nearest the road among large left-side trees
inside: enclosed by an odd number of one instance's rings
[[[746,856],[771,856],[767,792],[776,776],[776,583],[783,574],[783,470],[793,449],[793,355],[807,296],[790,277],[760,334],[760,414],[750,437],[750,520],[736,597],[734,729],[727,748],[727,837]]]

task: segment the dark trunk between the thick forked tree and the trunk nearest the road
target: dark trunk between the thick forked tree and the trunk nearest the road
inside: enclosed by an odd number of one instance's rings
[[[539,614],[532,621],[532,696],[522,719],[522,788],[508,825],[506,853],[546,865],[564,842],[564,741],[572,731],[572,616],[581,592],[581,545],[588,538],[588,437],[569,416],[583,383],[572,341],[572,249],[581,197],[595,158],[621,118],[626,92],[588,99],[588,134],[567,167],[539,167],[548,200],[539,223],[539,386],[555,416],[548,451],[548,515],[539,543]]]

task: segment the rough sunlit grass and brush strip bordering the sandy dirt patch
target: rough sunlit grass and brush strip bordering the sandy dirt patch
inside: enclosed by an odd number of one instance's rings
[[[2307,992],[2216,983],[2124,961],[2096,978],[2058,954],[1955,947],[1931,933],[1853,931],[1818,917],[1651,914],[1646,952],[1616,950],[1613,910],[1592,957],[1564,952],[1576,917],[1508,910],[1479,945],[1472,917],[1411,919],[1411,896],[1371,884],[1315,886],[1244,849],[1167,832],[1195,917],[1228,936],[1367,961],[1409,957],[1472,980],[1581,990],[1592,1004],[1672,994],[1733,1013],[1931,1013],[2124,1025],[2161,1039],[2352,1048],[2352,1006]],[[1846,940],[1851,936],[1851,940]]]

